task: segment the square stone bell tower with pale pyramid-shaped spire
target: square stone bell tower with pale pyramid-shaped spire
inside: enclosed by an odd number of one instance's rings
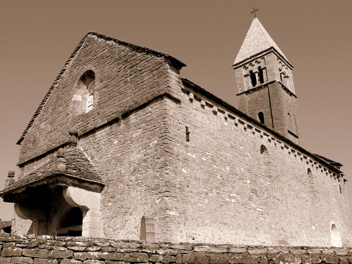
[[[253,19],[232,67],[239,110],[300,144],[293,66],[257,18]]]

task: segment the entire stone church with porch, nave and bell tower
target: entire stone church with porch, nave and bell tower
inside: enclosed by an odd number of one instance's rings
[[[340,163],[301,146],[293,66],[254,18],[239,109],[178,59],[87,33],[17,142],[13,232],[351,246]]]

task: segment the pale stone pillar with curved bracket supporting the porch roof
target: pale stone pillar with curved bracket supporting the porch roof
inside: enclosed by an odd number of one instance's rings
[[[83,210],[82,236],[99,237],[101,194],[70,186],[63,189],[63,197],[69,205]]]

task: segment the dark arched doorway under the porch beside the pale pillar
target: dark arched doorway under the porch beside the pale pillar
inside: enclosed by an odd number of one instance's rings
[[[67,206],[57,225],[57,236],[81,236],[83,215],[79,207]]]

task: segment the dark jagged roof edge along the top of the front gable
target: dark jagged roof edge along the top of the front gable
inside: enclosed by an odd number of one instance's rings
[[[145,53],[145,54],[153,54],[154,56],[156,57],[163,57],[165,59],[168,59],[170,61],[170,63],[175,67],[175,68],[179,68],[181,69],[182,67],[184,66],[187,66],[185,63],[183,63],[182,61],[172,57],[171,55],[168,55],[168,54],[165,54],[165,53],[162,53],[162,52],[158,52],[158,51],[155,51],[155,50],[152,50],[152,49],[149,49],[149,48],[145,48],[143,46],[138,46],[138,45],[134,45],[132,43],[128,43],[128,42],[125,42],[125,41],[122,41],[122,40],[118,40],[118,39],[114,39],[114,38],[111,38],[111,37],[108,37],[108,36],[105,36],[103,34],[100,34],[100,33],[97,33],[97,32],[94,32],[94,31],[90,31],[88,32],[84,37],[83,39],[78,43],[77,47],[75,48],[75,50],[73,51],[73,53],[71,54],[71,56],[68,58],[68,60],[66,61],[65,65],[63,66],[62,70],[60,71],[59,75],[56,77],[54,83],[51,85],[48,93],[45,95],[43,101],[40,103],[37,111],[34,113],[31,121],[29,122],[27,128],[25,129],[25,131],[22,133],[20,139],[17,141],[17,144],[20,145],[22,140],[25,138],[27,132],[29,131],[29,129],[32,127],[33,123],[34,123],[34,120],[36,119],[36,117],[40,114],[40,112],[42,111],[43,107],[45,106],[46,102],[48,101],[49,97],[51,96],[53,90],[55,89],[57,83],[60,81],[63,73],[66,71],[69,63],[73,60],[73,58],[75,57],[75,55],[78,53],[79,49],[82,47],[85,39],[89,36],[96,36],[100,39],[103,39],[105,41],[113,41],[119,45],[122,45],[122,46],[125,46],[125,47],[128,47],[134,51],[138,51],[138,52],[141,52],[141,53]]]

